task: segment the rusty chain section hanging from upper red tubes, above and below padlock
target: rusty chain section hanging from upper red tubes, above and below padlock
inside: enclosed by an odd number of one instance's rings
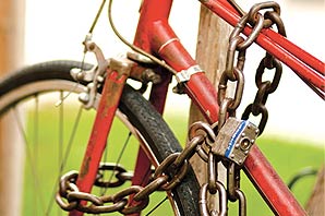
[[[261,10],[270,10],[266,11],[263,15],[260,13]],[[244,14],[242,19],[239,21],[234,29],[232,31],[229,38],[229,48],[227,52],[227,62],[226,70],[221,74],[220,82],[218,85],[218,104],[220,106],[219,110],[219,119],[218,119],[218,131],[224,127],[228,117],[236,116],[236,110],[239,107],[243,94],[244,87],[244,75],[243,68],[245,61],[245,51],[252,45],[252,43],[256,39],[258,34],[263,28],[268,28],[273,24],[276,24],[277,29],[280,34],[286,36],[285,27],[281,22],[280,8],[275,2],[265,2],[255,4],[249,13]],[[251,34],[244,38],[242,36],[242,32],[246,25],[253,26]],[[237,62],[234,62],[234,57],[237,56]],[[275,69],[275,75],[273,81],[262,81],[265,69]],[[262,113],[262,119],[258,124],[260,134],[263,132],[266,121],[267,121],[267,109],[265,107],[265,103],[267,100],[267,96],[276,91],[280,76],[281,76],[281,64],[275,59],[272,55],[266,53],[265,58],[261,61],[255,76],[255,83],[258,88],[254,103],[249,105],[245,109],[242,119],[248,120],[250,113],[254,116],[258,116]],[[228,82],[234,82],[236,91],[232,96],[227,95]],[[208,164],[212,164],[210,160]],[[224,161],[227,168],[227,197],[226,201],[236,202],[239,201],[239,215],[245,215],[246,205],[245,205],[245,196],[244,193],[240,190],[240,167],[238,167],[234,163]],[[208,178],[208,183],[206,184],[206,189],[210,194],[216,192],[216,184],[212,182],[218,182],[215,179],[216,175],[212,175],[215,165],[208,165],[208,175],[212,177]],[[218,182],[220,184],[220,182]],[[212,187],[214,185],[214,187]],[[225,188],[225,187],[224,187]],[[201,199],[206,196],[205,188],[202,189]],[[224,215],[224,200],[225,195],[217,190],[219,194],[219,203],[220,208],[218,215]],[[207,211],[206,200],[202,201],[205,203],[203,205],[202,214],[203,215],[216,215],[216,209]],[[227,203],[226,203],[227,205]]]

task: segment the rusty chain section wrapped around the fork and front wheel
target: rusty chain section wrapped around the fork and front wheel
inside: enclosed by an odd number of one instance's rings
[[[80,192],[75,182],[76,171],[70,171],[61,177],[59,192],[56,195],[57,203],[64,211],[77,209],[83,213],[100,214],[120,212],[132,214],[141,212],[149,202],[149,195],[155,191],[170,191],[174,189],[185,177],[189,168],[189,159],[197,153],[207,161],[207,152],[215,140],[213,128],[203,122],[194,123],[189,132],[190,142],[181,153],[170,154],[156,168],[153,180],[146,187],[133,185],[112,195],[96,196],[91,193]],[[173,170],[173,175],[168,175]],[[115,172],[116,181],[103,179],[104,171]],[[119,187],[132,179],[132,173],[123,167],[113,164],[103,164],[98,170],[96,185]],[[85,204],[86,203],[86,204]],[[131,205],[130,205],[131,203]]]

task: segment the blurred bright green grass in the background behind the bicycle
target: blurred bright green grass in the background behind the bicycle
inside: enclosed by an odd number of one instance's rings
[[[52,156],[55,153],[57,153],[59,149],[56,146],[56,143],[58,142],[56,139],[57,134],[53,132],[55,129],[58,127],[58,124],[53,123],[58,120],[58,116],[51,116],[49,115],[47,110],[46,112],[41,113],[44,117],[46,117],[46,121],[41,122],[41,129],[43,132],[39,137],[40,148],[38,149],[40,157],[45,159],[46,163],[39,164],[38,168],[40,168],[41,179],[40,181],[47,181],[48,179],[52,179],[52,181],[56,181],[51,175],[56,173],[58,170],[58,166],[56,168],[51,167],[49,168],[50,164],[58,165],[58,161],[56,161],[56,158]],[[69,140],[70,131],[72,131],[72,121],[74,120],[76,113],[75,112],[67,112],[64,115],[68,119],[68,122],[64,123],[64,140]],[[31,117],[33,118],[33,115],[31,113]],[[85,125],[84,128],[79,129],[77,136],[74,142],[74,148],[72,149],[72,157],[70,158],[72,161],[72,167],[69,167],[69,169],[79,169],[80,161],[82,159],[82,155],[84,153],[84,144],[88,140],[88,131],[92,128],[94,113],[86,115],[85,118],[83,118],[82,123]],[[188,127],[188,119],[182,118],[180,116],[176,115],[167,115],[166,117],[167,122],[170,123],[171,129],[173,130],[177,137],[180,140],[180,143],[184,144],[186,140],[186,132],[185,129]],[[33,136],[33,125],[28,124],[28,128],[31,128],[28,132],[28,136]],[[123,134],[123,132],[120,129],[120,123],[117,123],[117,125],[113,128],[116,130],[117,134]],[[49,135],[50,134],[50,137]],[[118,135],[112,137],[110,141],[110,145],[117,146],[117,144],[121,144],[122,141],[121,137],[123,135]],[[306,143],[293,143],[293,142],[287,142],[284,139],[279,137],[267,137],[263,136],[257,140],[257,145],[262,149],[262,152],[265,154],[265,156],[269,159],[274,168],[278,171],[279,176],[284,179],[286,183],[290,181],[290,179],[293,178],[293,176],[299,172],[301,169],[304,169],[305,167],[312,167],[313,169],[318,169],[324,164],[324,146],[315,146],[312,144]],[[128,154],[132,155],[132,152],[135,152],[137,148],[134,147],[136,145],[132,145],[128,147],[127,152]],[[112,154],[113,157],[117,156],[117,154]],[[133,160],[134,158],[128,158],[123,164],[127,164],[129,166],[129,163]],[[26,166],[28,167],[28,163],[26,163]],[[131,165],[130,165],[131,166]],[[26,169],[28,170],[28,168]],[[33,173],[28,172],[27,176],[33,176]],[[28,202],[37,202],[34,200],[31,200],[29,197],[29,190],[33,189],[33,185],[37,188],[37,182],[31,182],[28,178],[25,182],[25,196],[28,197]],[[294,188],[293,193],[297,196],[298,201],[304,205],[308,197],[310,196],[310,193],[312,191],[313,184],[315,181],[315,177],[306,177],[299,181]],[[50,184],[53,184],[51,182]],[[31,187],[32,185],[32,187]],[[48,185],[48,191],[51,191],[51,185]],[[252,187],[252,184],[248,181],[248,179],[242,173],[242,190],[244,191],[248,200],[248,215],[273,215],[268,209],[267,206],[264,204],[262,199],[260,197],[256,190]],[[43,192],[43,193],[50,193],[50,192]],[[113,193],[115,191],[112,191]],[[29,203],[25,203],[26,206],[29,206]],[[236,204],[229,204],[230,206],[230,213],[229,215],[238,215],[237,213],[237,203]],[[25,212],[24,215],[34,215],[33,208],[29,208],[28,212]],[[161,207],[161,211],[165,215],[165,208]]]

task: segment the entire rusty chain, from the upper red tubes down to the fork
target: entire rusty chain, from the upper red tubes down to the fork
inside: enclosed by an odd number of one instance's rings
[[[261,10],[266,11],[262,15]],[[155,191],[173,190],[185,177],[189,169],[189,159],[194,155],[198,156],[207,164],[208,177],[200,190],[201,215],[227,215],[228,200],[239,201],[239,214],[245,215],[246,201],[244,193],[240,190],[240,167],[233,163],[225,163],[212,152],[216,135],[222,128],[228,117],[234,117],[243,94],[245,63],[245,51],[256,39],[263,28],[274,24],[280,34],[286,36],[285,27],[280,19],[280,8],[275,2],[255,4],[249,13],[244,14],[234,27],[229,39],[227,52],[226,70],[221,74],[218,85],[218,104],[220,106],[219,120],[209,125],[204,122],[195,122],[189,129],[189,143],[181,153],[170,154],[153,172],[152,181],[146,187],[132,185],[112,195],[96,196],[84,193],[76,187],[77,172],[71,171],[61,177],[59,192],[56,195],[57,203],[64,211],[77,209],[84,213],[100,214],[120,212],[122,214],[133,214],[141,212],[148,205],[149,195]],[[252,32],[248,37],[242,36],[246,25],[252,26]],[[237,53],[238,52],[238,53]],[[236,62],[237,56],[237,62]],[[275,69],[273,81],[263,81],[265,70]],[[260,131],[263,132],[267,121],[267,109],[265,107],[267,97],[274,93],[281,76],[281,64],[272,55],[266,53],[262,59],[255,76],[258,88],[254,101],[249,105],[242,115],[242,119],[248,119],[252,113],[262,113]],[[236,92],[232,96],[227,95],[229,82],[236,83]],[[222,160],[227,168],[227,188],[218,181],[216,164]],[[170,175],[169,170],[173,170]],[[116,181],[104,180],[104,172],[112,171]],[[132,180],[133,175],[123,167],[113,164],[104,164],[98,169],[95,184],[98,187],[119,187],[125,181]],[[219,209],[209,209],[207,194],[217,194],[219,197]]]

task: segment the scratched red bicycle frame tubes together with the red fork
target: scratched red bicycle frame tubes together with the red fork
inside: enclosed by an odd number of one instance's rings
[[[240,19],[237,11],[226,0],[202,0],[201,2],[231,25],[236,25]],[[177,35],[168,24],[171,5],[172,0],[143,1],[134,45],[147,52],[158,56],[173,70],[181,72],[182,70],[195,67],[197,63],[181,45]],[[244,28],[244,34],[249,35],[252,29],[246,26]],[[322,61],[306,53],[272,29],[263,29],[255,41],[291,68],[299,76],[308,80],[316,88],[324,92],[325,65]],[[165,76],[165,82],[153,86],[149,98],[151,103],[159,112],[164,111],[171,74],[166,72]],[[105,85],[112,85],[110,82],[117,83],[118,80],[116,77],[107,79]],[[184,83],[184,88],[186,94],[201,109],[207,121],[209,123],[217,122],[219,111],[217,92],[204,75],[204,72],[193,74],[190,80]],[[106,98],[105,94],[109,94],[111,91],[112,89],[108,88],[107,93],[104,93],[103,98]],[[118,99],[115,100],[115,103],[109,104],[109,106],[111,106],[110,108],[103,110],[105,113],[101,113],[103,111],[99,110],[97,116],[106,115],[111,117],[115,113],[117,105]],[[103,106],[105,106],[105,101]],[[89,168],[95,169],[98,167],[99,160],[95,160],[94,155],[99,158],[101,157],[103,146],[105,145],[106,137],[109,133],[109,127],[105,132],[103,132],[100,128],[104,127],[103,124],[110,125],[110,123],[99,120],[98,122],[99,124],[97,124],[97,121],[94,124],[89,143],[96,140],[101,147],[96,148],[94,145],[88,145],[91,147],[88,147],[86,152],[83,167],[80,171],[83,178],[77,181],[80,189],[83,189],[84,192],[89,192],[92,189],[92,184],[95,180],[95,171],[89,171]],[[98,125],[100,125],[99,129]],[[139,153],[137,164],[140,166],[136,166],[135,169],[139,170],[145,170],[145,166],[151,166],[151,163],[145,154],[143,154],[142,149],[140,149]],[[287,185],[272,168],[257,145],[254,145],[251,149],[250,155],[244,163],[244,171],[275,214],[305,215],[304,209],[299,205]],[[137,171],[135,171],[135,173],[137,173]],[[133,183],[141,182],[140,180],[143,180],[142,178],[143,176],[141,175],[135,176],[133,178]],[[71,213],[71,215],[79,214],[80,213],[77,212]]]

